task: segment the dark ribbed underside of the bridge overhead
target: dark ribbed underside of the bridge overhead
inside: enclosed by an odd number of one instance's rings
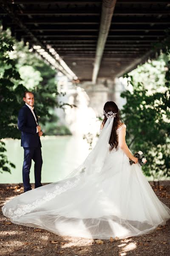
[[[55,58],[50,52],[53,49],[63,73],[72,70],[76,75],[72,79],[92,81],[91,86],[97,79],[99,83],[101,79],[114,80],[154,58],[159,47],[153,45],[164,41],[170,26],[168,0],[0,3],[3,29],[10,27],[18,40],[29,42],[30,47],[39,45]]]

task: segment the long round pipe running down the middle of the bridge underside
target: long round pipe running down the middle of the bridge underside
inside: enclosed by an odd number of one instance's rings
[[[108,37],[109,28],[115,8],[116,0],[103,0],[102,2],[102,17],[100,22],[99,37],[97,41],[96,57],[94,61],[94,70],[92,75],[92,83],[96,84],[99,67],[105,49],[105,43]]]

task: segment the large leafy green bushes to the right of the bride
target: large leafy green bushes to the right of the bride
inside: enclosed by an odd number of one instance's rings
[[[140,150],[146,155],[142,166],[146,176],[170,177],[170,51],[125,78],[128,86],[121,94],[126,99],[121,115],[127,124],[127,145],[133,154]],[[88,133],[83,139],[91,149],[93,135]]]

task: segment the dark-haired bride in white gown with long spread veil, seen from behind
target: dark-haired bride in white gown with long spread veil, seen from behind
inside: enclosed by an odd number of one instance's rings
[[[140,236],[166,224],[170,209],[127,147],[120,119],[117,105],[106,102],[99,138],[82,165],[64,180],[11,199],[3,214],[14,224],[93,239]]]

